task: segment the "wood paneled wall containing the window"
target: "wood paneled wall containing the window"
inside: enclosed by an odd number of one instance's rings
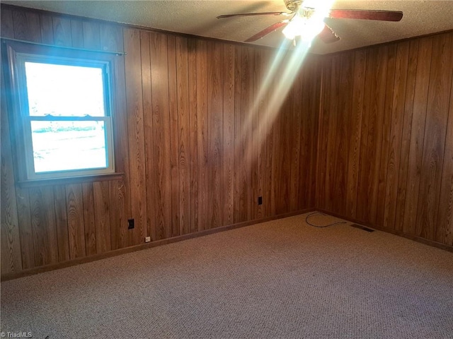
[[[143,244],[146,236],[154,242],[314,207],[317,59],[306,60],[282,93],[290,52],[263,81],[273,49],[8,6],[1,36],[127,53],[117,57],[113,112],[122,180],[16,184],[1,72],[2,275]]]

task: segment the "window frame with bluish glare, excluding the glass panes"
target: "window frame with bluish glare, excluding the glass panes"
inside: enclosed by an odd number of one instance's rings
[[[13,125],[16,139],[16,164],[19,182],[36,182],[42,179],[65,179],[115,174],[115,150],[113,140],[113,79],[114,55],[101,52],[61,49],[48,46],[36,46],[26,43],[8,43],[7,59],[13,102]],[[28,93],[25,76],[25,62],[86,66],[101,68],[103,73],[104,112],[103,117],[40,117],[31,116],[28,107]],[[69,169],[54,172],[35,172],[33,158],[32,121],[103,121],[105,131],[105,160],[107,167],[88,169]]]

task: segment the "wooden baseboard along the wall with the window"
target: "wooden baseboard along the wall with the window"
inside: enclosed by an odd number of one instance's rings
[[[69,266],[76,266],[76,265],[79,265],[81,263],[89,263],[91,261],[98,261],[98,260],[101,260],[101,259],[110,258],[112,256],[120,256],[121,254],[127,254],[127,253],[131,253],[131,252],[134,252],[134,251],[140,251],[142,249],[149,249],[151,247],[162,246],[162,245],[165,245],[165,244],[171,244],[173,242],[180,242],[180,241],[187,240],[187,239],[203,237],[203,236],[208,235],[208,234],[214,234],[214,233],[217,233],[217,232],[224,232],[224,231],[227,231],[227,230],[233,230],[233,229],[239,228],[239,227],[256,225],[256,224],[260,224],[262,222],[267,222],[267,221],[271,221],[271,220],[287,218],[287,217],[291,217],[293,215],[299,215],[299,214],[303,214],[303,213],[309,213],[309,212],[313,212],[314,210],[315,210],[314,208],[307,208],[305,210],[298,210],[296,212],[275,215],[273,217],[263,218],[263,219],[259,219],[259,220],[250,220],[250,221],[246,221],[246,222],[238,222],[236,224],[231,224],[231,225],[226,225],[226,226],[222,226],[222,227],[212,228],[210,230],[203,230],[203,231],[200,231],[200,232],[180,235],[178,237],[173,237],[173,238],[168,238],[168,239],[163,239],[163,240],[157,240],[155,242],[149,242],[147,244],[139,244],[139,245],[135,245],[135,246],[125,247],[124,249],[115,249],[113,251],[108,251],[108,252],[105,252],[105,253],[102,253],[102,254],[95,254],[93,256],[85,256],[83,258],[75,258],[75,259],[72,259],[72,260],[69,260],[69,261],[64,261],[63,263],[52,263],[50,265],[30,268],[28,270],[21,270],[21,271],[18,271],[18,272],[9,272],[9,273],[5,273],[4,275],[1,275],[1,281],[22,278],[22,277],[26,277],[28,275],[35,275],[35,274],[38,274],[38,273],[48,272],[50,270],[57,270],[59,268],[65,268],[65,267],[69,267]]]

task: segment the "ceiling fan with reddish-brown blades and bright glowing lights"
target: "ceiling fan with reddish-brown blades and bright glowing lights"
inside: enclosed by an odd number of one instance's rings
[[[325,42],[331,43],[340,40],[336,32],[326,23],[324,18],[334,19],[362,19],[362,20],[381,20],[399,21],[403,18],[401,11],[378,11],[378,10],[357,10],[357,9],[330,9],[326,5],[327,1],[320,0],[284,0],[289,12],[262,12],[262,13],[238,13],[217,16],[217,19],[233,18],[241,16],[286,16],[288,19],[279,21],[261,30],[245,42],[253,42],[274,32],[278,28],[285,26],[283,34],[294,40],[300,36],[302,40],[311,41],[316,35]]]

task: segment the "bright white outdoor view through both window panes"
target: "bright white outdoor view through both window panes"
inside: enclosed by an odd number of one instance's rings
[[[105,121],[77,118],[105,117],[103,70],[25,62],[25,74],[35,172],[107,167]]]

